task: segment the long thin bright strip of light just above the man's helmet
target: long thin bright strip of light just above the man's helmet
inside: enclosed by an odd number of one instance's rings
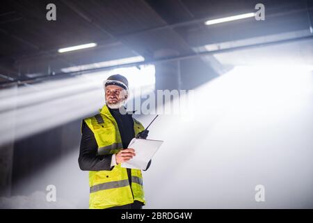
[[[88,63],[81,66],[73,66],[69,68],[62,68],[62,72],[77,72],[81,70],[90,70],[94,68],[107,68],[110,66],[118,66],[122,64],[128,64],[128,63],[136,63],[136,62],[142,62],[145,61],[145,58],[143,56],[131,56],[123,59],[117,59],[112,61],[102,61],[99,63]]]

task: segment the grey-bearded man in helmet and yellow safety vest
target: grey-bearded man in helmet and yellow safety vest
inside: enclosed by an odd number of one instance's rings
[[[104,91],[106,105],[81,125],[79,167],[89,171],[89,208],[141,209],[145,205],[141,170],[120,164],[136,155],[133,148],[127,148],[131,139],[145,138],[147,132],[132,114],[120,112],[129,95],[125,77],[110,76]]]

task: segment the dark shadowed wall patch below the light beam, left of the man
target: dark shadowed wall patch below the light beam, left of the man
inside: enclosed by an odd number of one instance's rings
[[[19,184],[38,174],[74,148],[81,140],[81,119],[26,137],[14,144],[11,195],[20,194]],[[79,151],[77,151],[78,157]],[[77,168],[79,168],[77,164]],[[31,193],[36,188],[30,188]]]

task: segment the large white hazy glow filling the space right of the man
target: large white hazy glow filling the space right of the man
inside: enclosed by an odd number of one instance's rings
[[[259,208],[250,191],[260,179],[275,197],[264,202],[266,208],[312,207],[305,201],[313,194],[308,189],[313,184],[313,77],[309,67],[298,68],[236,67],[194,89],[188,125],[174,114],[160,116],[149,132],[150,139],[164,144],[143,172],[146,208]],[[175,155],[179,162],[172,163]],[[192,171],[195,163],[198,169]],[[156,187],[164,177],[159,173],[168,168],[173,169],[166,185]],[[186,194],[191,184],[183,182],[201,183]],[[282,182],[288,185],[284,190]],[[172,202],[164,203],[169,196]]]

